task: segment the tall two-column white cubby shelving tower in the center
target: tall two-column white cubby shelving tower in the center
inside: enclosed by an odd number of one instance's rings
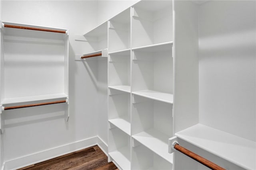
[[[146,169],[172,168],[172,65],[171,1],[140,1],[108,21],[108,152],[121,169],[138,169],[138,145],[154,162]]]

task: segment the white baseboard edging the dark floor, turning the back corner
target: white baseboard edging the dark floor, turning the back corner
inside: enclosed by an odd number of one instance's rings
[[[56,158],[64,154],[68,154],[71,152],[75,152],[77,150],[98,145],[98,143],[100,143],[99,147],[106,154],[107,153],[106,150],[108,149],[106,143],[104,143],[104,141],[102,141],[98,136],[96,136],[96,137],[84,139],[81,141],[76,141],[74,143],[69,143],[67,145],[62,145],[60,147],[44,150],[42,152],[37,152],[34,154],[22,156],[20,158],[16,158],[13,160],[8,160],[4,162],[1,170],[14,170],[14,169],[30,166],[32,164],[36,164],[45,160]]]

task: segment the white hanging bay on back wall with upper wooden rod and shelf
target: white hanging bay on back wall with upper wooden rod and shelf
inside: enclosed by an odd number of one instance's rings
[[[1,106],[68,101],[68,30],[1,22],[0,63]]]

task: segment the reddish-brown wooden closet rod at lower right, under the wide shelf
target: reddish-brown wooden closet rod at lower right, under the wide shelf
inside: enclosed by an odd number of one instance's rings
[[[189,156],[190,158],[196,160],[197,162],[200,162],[201,164],[203,164],[204,166],[207,166],[208,168],[210,168],[212,170],[226,170],[226,169],[222,168],[221,166],[214,164],[210,160],[207,160],[207,159],[203,158],[202,156],[199,156],[198,154],[195,154],[194,152],[191,152],[190,150],[180,146],[177,143],[174,145],[174,149],[182,152],[183,154]]]

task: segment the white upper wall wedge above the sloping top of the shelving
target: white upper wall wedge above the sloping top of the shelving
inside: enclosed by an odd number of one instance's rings
[[[98,0],[98,24],[112,18],[139,0]]]

